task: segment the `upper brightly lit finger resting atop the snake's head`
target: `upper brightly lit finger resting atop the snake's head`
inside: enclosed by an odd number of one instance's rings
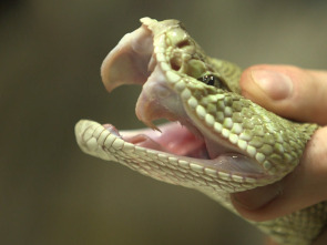
[[[290,65],[255,65],[241,78],[243,95],[296,121],[327,123],[327,72]]]

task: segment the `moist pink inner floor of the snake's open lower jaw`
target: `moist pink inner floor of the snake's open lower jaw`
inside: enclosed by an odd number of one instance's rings
[[[104,124],[103,126],[115,136],[135,146],[151,149],[162,154],[173,154],[178,160],[196,161],[204,167],[229,173],[231,175],[237,174],[255,178],[265,176],[265,173],[254,160],[239,153],[223,153],[210,159],[205,141],[192,134],[177,122],[162,124],[157,126],[160,131],[152,129],[117,131],[111,124]]]

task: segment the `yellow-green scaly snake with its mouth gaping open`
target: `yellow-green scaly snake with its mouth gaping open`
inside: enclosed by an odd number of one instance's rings
[[[88,154],[197,190],[237,214],[231,193],[292,173],[319,127],[280,118],[242,96],[241,74],[238,65],[206,55],[181,21],[142,18],[141,27],[106,55],[101,76],[109,92],[142,85],[135,112],[146,127],[119,131],[80,120],[76,142]],[[167,122],[156,125],[160,119]],[[248,222],[279,244],[307,245],[327,224],[327,203]]]

